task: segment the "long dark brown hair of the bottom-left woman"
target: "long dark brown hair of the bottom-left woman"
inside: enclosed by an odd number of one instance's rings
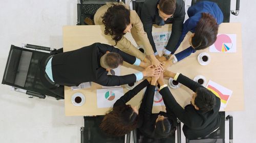
[[[122,136],[137,128],[138,114],[131,105],[114,107],[103,118],[100,129],[110,136]]]

